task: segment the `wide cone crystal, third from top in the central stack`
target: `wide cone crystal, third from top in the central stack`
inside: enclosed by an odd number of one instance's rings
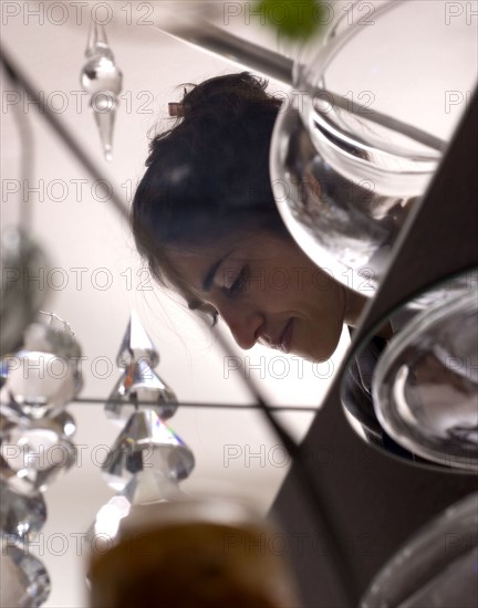
[[[157,471],[183,480],[195,465],[193,452],[153,410],[133,413],[102,467],[107,483],[123,490],[133,475]]]

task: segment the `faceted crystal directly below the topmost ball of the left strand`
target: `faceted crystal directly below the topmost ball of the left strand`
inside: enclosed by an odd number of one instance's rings
[[[76,461],[75,445],[54,420],[4,424],[0,437],[0,472],[20,493],[46,490],[60,472]]]

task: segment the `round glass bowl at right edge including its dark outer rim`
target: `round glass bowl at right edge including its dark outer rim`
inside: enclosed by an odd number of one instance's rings
[[[352,426],[412,462],[477,470],[477,271],[434,286],[377,327],[342,377]]]

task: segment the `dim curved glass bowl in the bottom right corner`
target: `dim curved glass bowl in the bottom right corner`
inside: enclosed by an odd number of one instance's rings
[[[447,509],[373,580],[361,608],[475,608],[478,494]]]

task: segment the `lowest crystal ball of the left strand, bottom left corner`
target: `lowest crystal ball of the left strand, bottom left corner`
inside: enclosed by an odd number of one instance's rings
[[[43,564],[28,549],[1,537],[0,606],[37,607],[50,595],[50,577]]]

